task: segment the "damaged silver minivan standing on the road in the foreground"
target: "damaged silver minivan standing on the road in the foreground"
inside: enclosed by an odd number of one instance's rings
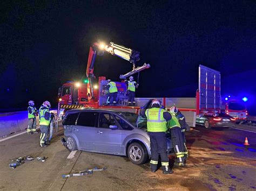
[[[137,124],[132,112],[102,109],[73,109],[66,112],[62,143],[69,151],[126,155],[133,164],[143,164],[151,156],[145,124]],[[169,151],[173,150],[167,139]]]

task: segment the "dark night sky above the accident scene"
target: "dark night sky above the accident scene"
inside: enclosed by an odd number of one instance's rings
[[[255,1],[1,1],[0,14],[0,108],[54,106],[62,83],[85,77],[99,40],[150,63],[137,96],[194,97],[202,64],[221,72],[223,96],[256,102]],[[107,53],[95,65],[96,76],[116,81],[132,69]]]

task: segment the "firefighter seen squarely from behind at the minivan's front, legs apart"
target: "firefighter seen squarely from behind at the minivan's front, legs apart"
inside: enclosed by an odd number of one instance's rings
[[[170,112],[161,109],[158,100],[153,100],[151,109],[142,110],[142,116],[147,118],[147,132],[150,136],[151,171],[157,171],[158,156],[160,154],[163,173],[173,173],[172,169],[169,167],[166,141],[166,121],[172,118]]]

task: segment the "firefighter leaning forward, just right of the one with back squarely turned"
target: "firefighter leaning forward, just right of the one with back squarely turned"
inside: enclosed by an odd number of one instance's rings
[[[174,165],[185,166],[184,142],[183,142],[183,137],[181,135],[181,127],[179,124],[179,120],[175,116],[173,112],[173,108],[170,109],[170,114],[172,115],[172,119],[171,121],[167,122],[167,129],[169,129],[171,133],[172,145],[177,157],[176,162],[174,162]]]

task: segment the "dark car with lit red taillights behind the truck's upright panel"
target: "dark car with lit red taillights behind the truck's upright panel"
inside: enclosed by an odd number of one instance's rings
[[[206,129],[211,129],[212,127],[223,127],[231,128],[235,124],[235,118],[230,115],[221,112],[217,116],[203,116],[196,117],[197,125],[204,125]]]

